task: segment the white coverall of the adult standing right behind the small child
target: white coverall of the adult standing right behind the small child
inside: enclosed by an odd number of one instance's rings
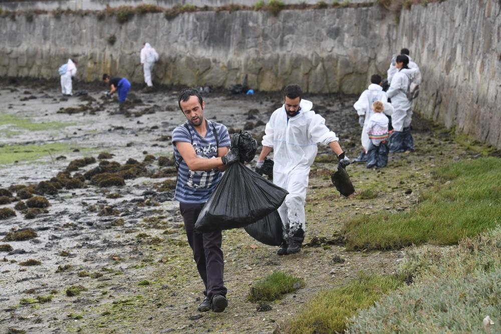
[[[355,110],[357,111],[358,116],[365,116],[364,127],[362,129],[362,147],[367,153],[371,145],[371,140],[369,139],[369,135],[367,134],[366,127],[369,123],[371,116],[374,114],[372,110],[372,104],[376,101],[381,101],[384,106],[384,113],[388,116],[391,116],[393,113],[393,106],[388,103],[388,97],[386,96],[386,92],[383,92],[383,88],[376,84],[370,84],[369,88],[365,90],[357,102],[353,105]]]

